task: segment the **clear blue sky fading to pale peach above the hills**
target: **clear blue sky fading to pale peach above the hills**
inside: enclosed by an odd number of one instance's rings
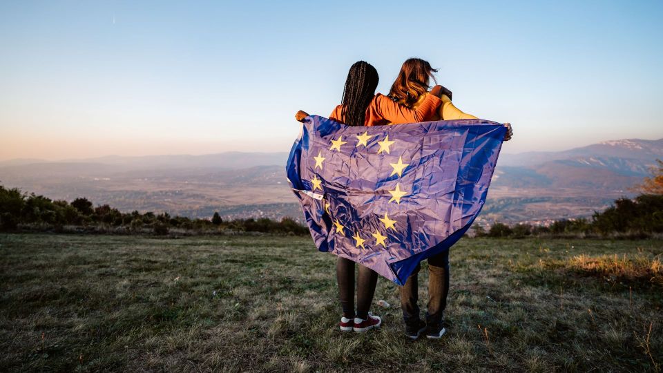
[[[415,5],[416,4],[416,5]],[[503,151],[663,137],[663,1],[2,1],[0,160],[288,151],[421,57]]]

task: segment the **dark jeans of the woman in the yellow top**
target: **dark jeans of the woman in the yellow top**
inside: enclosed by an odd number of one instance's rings
[[[401,309],[405,323],[419,320],[419,269],[417,265],[405,285],[401,287]],[[427,323],[441,323],[449,294],[449,250],[428,258],[428,311]]]

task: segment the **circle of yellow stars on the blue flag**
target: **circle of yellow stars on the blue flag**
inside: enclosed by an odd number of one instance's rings
[[[375,137],[376,135],[369,135],[368,131],[365,131],[362,134],[356,135],[357,142],[355,144],[355,148],[358,148],[359,146],[368,146],[368,141],[372,138]],[[378,149],[378,154],[381,153],[387,153],[390,154],[390,146],[392,146],[396,141],[395,140],[389,140],[389,135],[385,135],[385,138],[381,141],[378,141],[377,144],[380,146]],[[331,140],[331,146],[329,146],[329,151],[341,151],[341,147],[345,144],[348,144],[348,141],[343,141],[343,135],[339,135],[336,139]],[[318,155],[316,157],[313,157],[315,160],[315,165],[314,165],[314,170],[316,169],[323,169],[323,164],[325,162],[325,157],[322,155],[322,151],[318,151]],[[390,166],[392,166],[392,173],[390,176],[393,175],[398,175],[398,178],[401,178],[403,176],[403,171],[407,169],[407,166],[409,166],[409,163],[404,163],[403,162],[403,155],[400,155],[398,157],[398,162],[396,163],[390,163]],[[318,175],[314,175],[314,178],[311,178],[311,184],[313,185],[313,190],[316,191],[316,189],[320,189],[320,191],[323,190],[321,187],[322,180],[318,178]],[[403,198],[408,191],[402,190],[401,189],[401,183],[396,182],[396,188],[392,191],[387,190],[392,197],[390,198],[389,202],[395,202],[396,204],[401,204],[401,198]],[[331,207],[331,204],[329,202],[325,201],[325,212],[330,215],[329,213],[329,207]],[[385,233],[389,231],[389,229],[393,229],[396,231],[396,220],[392,220],[387,213],[385,213],[384,218],[379,218],[379,220],[384,224],[385,226]],[[341,223],[338,219],[334,220],[334,229],[336,231],[336,234],[339,234],[340,236],[345,237],[345,226],[343,223]],[[384,248],[387,247],[387,236],[384,236],[378,229],[376,229],[374,232],[370,233],[371,236],[375,239],[375,246],[382,246]],[[368,238],[362,238],[361,235],[359,234],[358,231],[354,232],[354,236],[352,236],[355,242],[355,247],[361,247],[362,249],[365,249],[365,242],[368,240]]]

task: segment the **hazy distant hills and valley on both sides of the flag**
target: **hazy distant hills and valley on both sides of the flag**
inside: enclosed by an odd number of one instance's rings
[[[50,198],[86,196],[123,211],[168,211],[191,217],[301,219],[285,178],[288,154],[112,155],[48,162],[0,162],[0,182]],[[590,216],[663,159],[661,140],[615,140],[558,152],[500,156],[479,222],[531,222]]]

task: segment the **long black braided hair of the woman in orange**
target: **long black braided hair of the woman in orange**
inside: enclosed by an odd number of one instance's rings
[[[340,115],[348,126],[363,126],[366,109],[378,88],[378,70],[366,61],[350,66],[343,88]]]

